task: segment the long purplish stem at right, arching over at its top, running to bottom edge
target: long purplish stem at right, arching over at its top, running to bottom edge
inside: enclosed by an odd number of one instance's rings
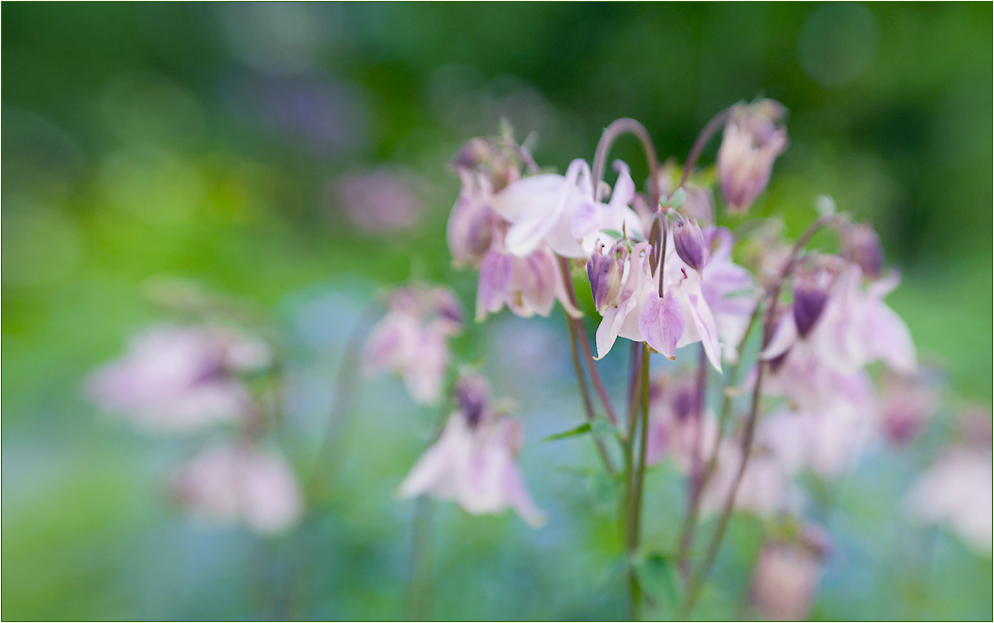
[[[783,268],[780,270],[779,278],[776,284],[771,289],[769,294],[769,306],[766,309],[766,317],[763,322],[763,341],[760,350],[765,350],[769,346],[770,340],[773,337],[773,326],[776,322],[776,310],[777,303],[780,300],[780,290],[783,288],[783,283],[787,277],[793,272],[794,266],[800,257],[801,251],[804,246],[811,240],[811,237],[815,235],[822,227],[832,225],[839,220],[844,220],[844,217],[837,215],[823,216],[816,220],[814,223],[808,227],[807,231],[794,243],[793,249],[791,249],[791,254],[784,262]],[[735,474],[735,480],[732,482],[732,486],[725,498],[725,503],[722,506],[721,516],[718,519],[718,525],[715,527],[714,534],[711,536],[711,541],[708,543],[708,549],[704,556],[704,562],[698,568],[697,573],[694,574],[691,579],[690,585],[687,589],[687,600],[684,602],[684,606],[681,610],[681,615],[679,618],[685,619],[690,611],[694,607],[694,603],[697,601],[697,597],[700,594],[701,587],[704,584],[704,580],[707,578],[708,573],[711,571],[711,567],[714,565],[715,558],[718,556],[718,550],[721,548],[721,542],[725,537],[725,530],[728,528],[728,522],[731,519],[732,510],[735,508],[735,496],[738,493],[739,485],[742,483],[742,477],[745,474],[746,467],[749,463],[749,456],[752,452],[752,442],[753,437],[756,432],[756,420],[759,417],[759,404],[762,395],[763,377],[769,366],[765,361],[759,362],[759,369],[756,372],[756,385],[752,391],[752,404],[749,408],[749,417],[746,419],[745,430],[742,434],[742,459],[739,462],[739,469]]]

